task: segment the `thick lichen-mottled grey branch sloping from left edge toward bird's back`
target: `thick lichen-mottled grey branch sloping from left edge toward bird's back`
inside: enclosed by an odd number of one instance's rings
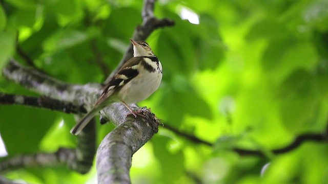
[[[33,68],[22,66],[13,59],[4,68],[3,74],[11,81],[23,85],[40,95],[71,102],[77,106],[83,105],[87,110],[93,106],[101,92],[99,84],[68,84],[40,73]]]

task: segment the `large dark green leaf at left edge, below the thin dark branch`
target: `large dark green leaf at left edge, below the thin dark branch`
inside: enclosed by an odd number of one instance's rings
[[[53,111],[22,106],[1,106],[0,114],[6,114],[2,115],[0,131],[9,155],[37,152],[57,118]]]

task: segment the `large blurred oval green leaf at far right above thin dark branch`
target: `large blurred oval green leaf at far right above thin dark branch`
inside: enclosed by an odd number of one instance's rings
[[[281,118],[291,132],[316,129],[315,122],[320,99],[315,78],[304,70],[297,70],[278,90]]]

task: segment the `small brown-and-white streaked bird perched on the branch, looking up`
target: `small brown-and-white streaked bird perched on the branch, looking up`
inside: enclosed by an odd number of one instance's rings
[[[145,100],[157,90],[162,80],[160,61],[146,41],[130,40],[133,57],[108,82],[93,108],[71,129],[72,134],[77,135],[97,112],[114,102],[124,104],[136,117],[138,113],[128,104]]]

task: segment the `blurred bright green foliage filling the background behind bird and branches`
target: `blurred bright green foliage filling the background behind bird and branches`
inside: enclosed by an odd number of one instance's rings
[[[103,82],[141,23],[141,1],[5,0],[0,7],[0,68],[8,59],[70,83]],[[195,12],[199,25],[181,19]],[[133,183],[328,183],[323,132],[328,112],[328,1],[158,1],[155,15],[175,20],[148,42],[163,64],[163,81],[148,106],[163,124],[214,143],[196,144],[160,128],[133,156]],[[105,62],[101,67],[99,63]],[[31,65],[31,64],[29,64]],[[36,95],[0,78],[0,91]],[[22,106],[0,107],[0,133],[9,156],[74,147],[72,115]],[[98,126],[98,143],[113,128]],[[267,158],[240,156],[234,147]],[[261,169],[270,163],[261,174]],[[31,183],[94,183],[67,168],[6,173]]]

